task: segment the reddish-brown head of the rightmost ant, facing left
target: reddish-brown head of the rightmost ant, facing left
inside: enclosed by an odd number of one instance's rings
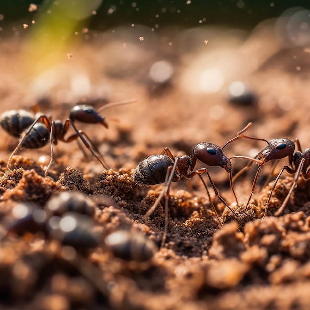
[[[278,160],[293,155],[295,150],[294,141],[285,138],[276,138],[268,142],[268,145],[261,151],[260,160]]]

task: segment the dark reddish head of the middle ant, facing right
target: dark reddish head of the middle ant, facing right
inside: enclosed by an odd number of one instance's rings
[[[208,166],[220,166],[227,172],[231,171],[230,160],[225,156],[222,149],[214,143],[203,142],[197,144],[193,149],[193,157]]]

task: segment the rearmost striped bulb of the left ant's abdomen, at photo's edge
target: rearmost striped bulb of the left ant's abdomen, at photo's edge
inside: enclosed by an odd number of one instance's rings
[[[25,110],[5,111],[0,116],[1,127],[10,135],[19,138],[21,133],[35,121],[35,115]]]

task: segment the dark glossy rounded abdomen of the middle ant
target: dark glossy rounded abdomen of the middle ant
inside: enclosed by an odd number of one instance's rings
[[[151,155],[139,163],[135,169],[133,181],[144,185],[164,183],[167,170],[173,165],[173,160],[166,154]],[[175,176],[173,181],[177,180],[177,176]]]

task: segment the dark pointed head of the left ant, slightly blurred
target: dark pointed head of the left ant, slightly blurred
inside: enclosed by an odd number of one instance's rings
[[[74,122],[75,120],[86,123],[86,124],[97,124],[100,123],[104,127],[108,128],[105,118],[101,116],[93,106],[79,104],[75,105],[70,111],[70,119]]]

